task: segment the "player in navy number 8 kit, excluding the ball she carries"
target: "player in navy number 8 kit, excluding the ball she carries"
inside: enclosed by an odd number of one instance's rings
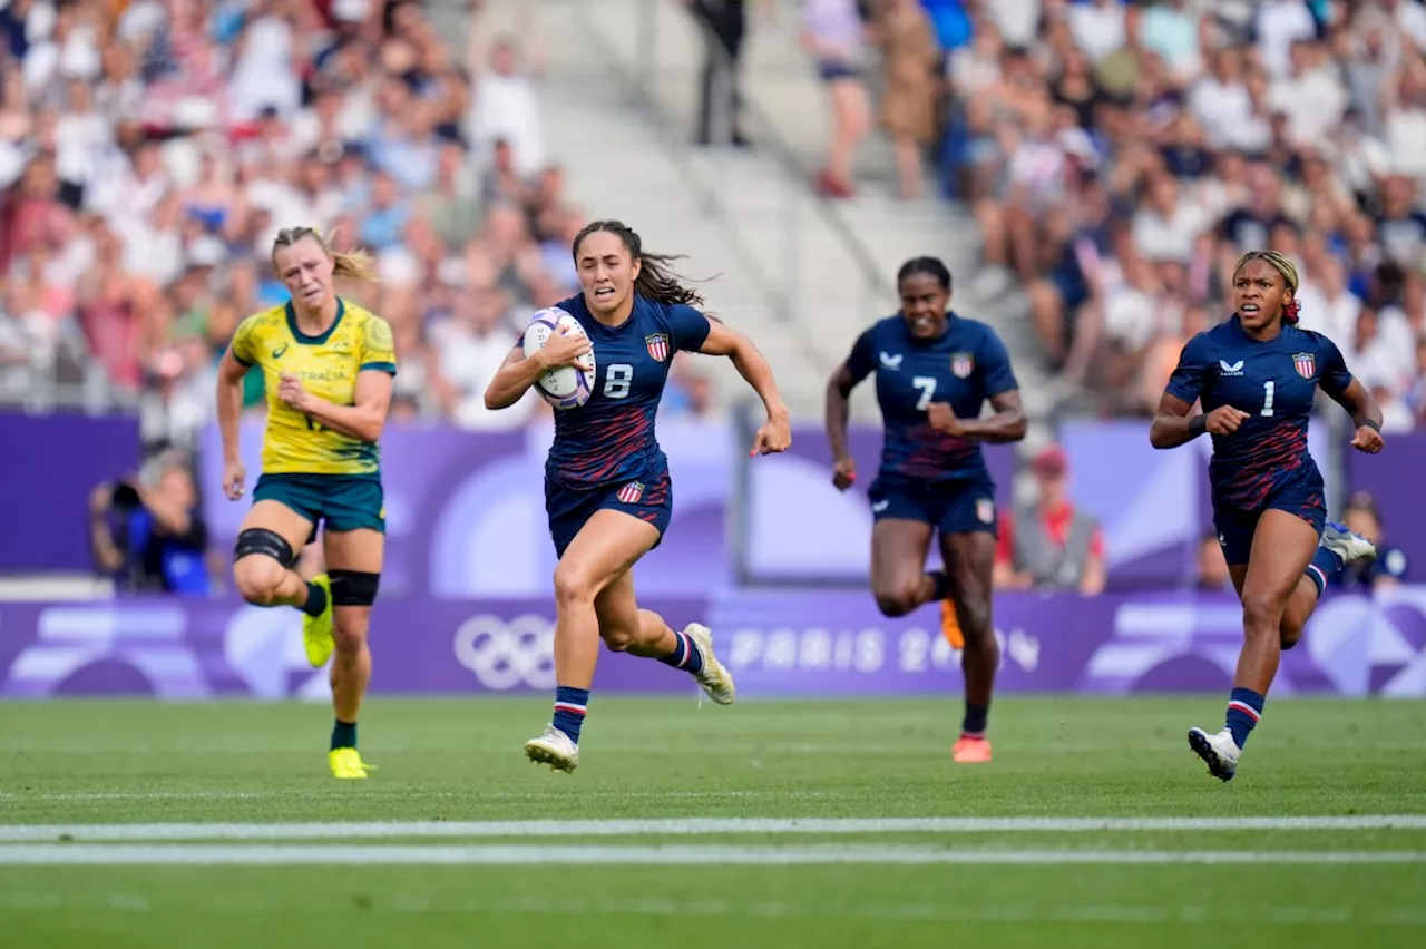
[[[559,771],[579,765],[579,731],[599,658],[613,651],[656,658],[693,674],[709,697],[733,701],[733,677],[713,654],[707,627],[674,633],[640,610],[633,566],[663,537],[673,513],[669,463],[653,420],[673,353],[729,356],[761,398],[767,422],[753,455],[791,445],[787,408],[773,370],[742,333],[694,309],[702,298],[667,269],[670,258],[643,249],[617,221],[595,221],[572,248],[582,294],[559,304],[588,339],[560,331],[526,356],[518,345],[485,392],[485,405],[513,405],[553,368],[595,349],[597,378],[589,402],[555,413],[555,443],[545,465],[545,510],[559,554],[555,570],[555,717],[525,754]]]

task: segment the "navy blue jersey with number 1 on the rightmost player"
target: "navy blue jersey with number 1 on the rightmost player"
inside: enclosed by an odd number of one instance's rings
[[[1318,386],[1340,396],[1350,383],[1342,351],[1322,333],[1283,326],[1263,342],[1233,315],[1188,341],[1166,390],[1189,405],[1202,399],[1205,413],[1225,405],[1248,413],[1232,435],[1212,436],[1208,479],[1216,506],[1251,512],[1289,486],[1320,490],[1308,416]]]

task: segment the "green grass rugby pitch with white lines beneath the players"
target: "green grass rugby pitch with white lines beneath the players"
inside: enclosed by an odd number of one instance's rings
[[[0,943],[1426,945],[1426,702],[1269,702],[1238,778],[1202,700],[374,701],[365,782],[292,704],[0,704]],[[1082,818],[1094,818],[1085,821]]]

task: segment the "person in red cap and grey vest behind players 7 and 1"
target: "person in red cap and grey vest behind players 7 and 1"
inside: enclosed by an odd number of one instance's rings
[[[995,588],[1077,590],[1098,596],[1105,587],[1104,531],[1094,516],[1070,500],[1068,457],[1058,445],[1031,462],[1038,497],[1000,519]]]

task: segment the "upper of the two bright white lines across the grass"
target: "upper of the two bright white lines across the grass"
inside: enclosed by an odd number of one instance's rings
[[[1104,834],[1145,831],[1426,831],[1426,815],[1147,818],[666,818],[361,824],[16,824],[0,842],[352,841],[382,838],[692,836],[707,834]]]

